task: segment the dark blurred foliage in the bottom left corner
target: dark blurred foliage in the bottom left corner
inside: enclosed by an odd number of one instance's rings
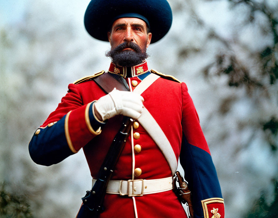
[[[8,192],[5,183],[0,184],[0,218],[32,217],[27,199],[23,195]]]

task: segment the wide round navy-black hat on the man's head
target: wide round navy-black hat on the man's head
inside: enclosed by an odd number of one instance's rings
[[[152,33],[151,43],[166,35],[173,20],[166,0],[92,0],[85,12],[84,24],[92,37],[108,41],[107,32],[121,17],[144,20]]]

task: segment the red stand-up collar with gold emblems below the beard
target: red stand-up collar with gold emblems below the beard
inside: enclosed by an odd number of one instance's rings
[[[118,67],[116,64],[111,62],[108,72],[115,73],[115,74],[121,75],[123,77],[126,77],[127,76],[127,68],[131,68],[132,77],[139,76],[139,75],[149,71],[147,61],[144,61],[143,63],[140,63],[133,67]]]

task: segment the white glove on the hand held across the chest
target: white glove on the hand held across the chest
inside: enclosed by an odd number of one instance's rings
[[[114,88],[112,92],[97,100],[94,106],[102,120],[119,114],[137,119],[143,111],[143,101],[144,98],[137,93]]]

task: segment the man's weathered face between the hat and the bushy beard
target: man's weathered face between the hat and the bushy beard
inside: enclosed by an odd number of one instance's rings
[[[112,24],[111,33],[108,32],[108,40],[111,49],[114,49],[123,42],[134,42],[144,52],[150,45],[151,33],[147,33],[147,25],[145,21],[138,18],[119,18]],[[133,50],[125,48],[123,50]]]

